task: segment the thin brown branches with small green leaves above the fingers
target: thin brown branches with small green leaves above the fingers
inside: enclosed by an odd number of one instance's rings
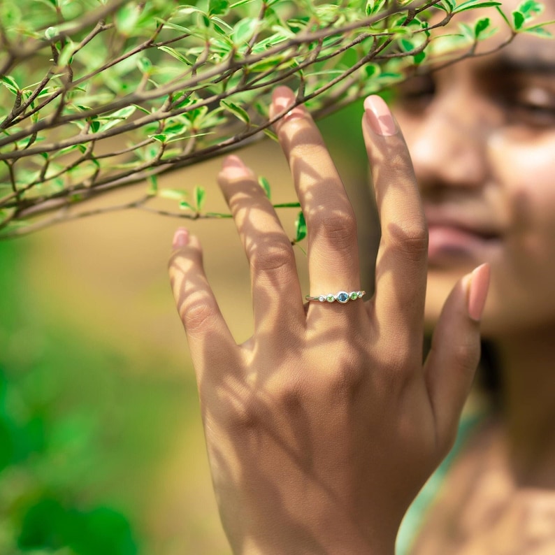
[[[315,116],[415,71],[475,54],[489,17],[442,27],[487,0],[5,0],[0,6],[0,236],[89,215],[89,199],[147,181],[119,208],[166,199],[203,212],[203,189],[157,175],[263,134],[278,83]],[[548,36],[524,0],[510,33]],[[435,15],[435,17],[434,17]],[[429,55],[434,47],[433,57]],[[456,53],[455,53],[456,52]],[[159,206],[159,205],[156,205]]]

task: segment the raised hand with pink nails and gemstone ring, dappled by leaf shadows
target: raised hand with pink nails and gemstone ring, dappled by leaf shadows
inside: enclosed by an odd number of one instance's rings
[[[294,103],[276,89],[273,114]],[[403,514],[454,441],[477,365],[489,268],[454,287],[422,364],[426,222],[401,133],[378,97],[363,134],[382,240],[368,302],[303,304],[291,243],[255,175],[219,173],[252,275],[236,345],[179,230],[170,275],[199,384],[212,479],[236,554],[392,554]],[[360,288],[356,222],[319,131],[278,124],[308,225],[310,295]]]

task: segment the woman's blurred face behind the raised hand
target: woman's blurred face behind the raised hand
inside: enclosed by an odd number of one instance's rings
[[[553,2],[543,17],[555,19]],[[428,219],[428,324],[455,280],[488,261],[484,335],[554,325],[555,41],[517,36],[414,78],[396,116]]]

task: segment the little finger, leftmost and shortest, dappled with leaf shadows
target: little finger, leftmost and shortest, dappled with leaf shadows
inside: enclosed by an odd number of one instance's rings
[[[175,233],[173,246],[168,266],[171,289],[200,386],[209,377],[206,371],[222,368],[222,360],[229,361],[229,371],[238,368],[233,364],[237,346],[206,279],[199,240],[181,228]]]

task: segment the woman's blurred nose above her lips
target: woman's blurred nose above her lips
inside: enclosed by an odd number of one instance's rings
[[[491,111],[468,89],[435,96],[409,140],[421,187],[482,186],[493,123]]]

